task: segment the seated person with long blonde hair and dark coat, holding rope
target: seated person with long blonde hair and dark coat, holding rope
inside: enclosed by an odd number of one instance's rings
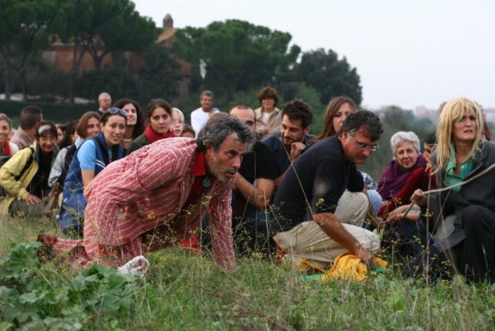
[[[437,126],[437,151],[432,173],[444,190],[426,195],[418,189],[411,200],[428,208],[434,233],[430,270],[443,258],[470,281],[495,282],[495,144],[483,134],[483,113],[474,101],[454,98],[443,107]],[[451,215],[451,216],[449,216]],[[448,220],[452,220],[449,227]],[[449,229],[450,228],[450,229]],[[405,275],[421,273],[419,255]],[[418,268],[419,267],[419,268]]]

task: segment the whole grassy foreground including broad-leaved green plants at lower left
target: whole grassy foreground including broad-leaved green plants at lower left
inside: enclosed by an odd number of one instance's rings
[[[495,330],[495,286],[462,278],[425,286],[393,270],[364,283],[300,281],[260,257],[223,273],[170,248],[144,280],[107,268],[40,264],[32,242],[50,222],[1,220],[0,330]]]

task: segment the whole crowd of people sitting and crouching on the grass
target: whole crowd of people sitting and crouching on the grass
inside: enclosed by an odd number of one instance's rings
[[[0,213],[52,217],[65,236],[40,234],[41,255],[82,268],[140,273],[146,253],[173,245],[211,248],[225,269],[253,250],[320,268],[350,252],[373,268],[393,242],[379,235],[388,229],[410,248],[397,250],[412,255],[408,277],[495,281],[495,145],[480,105],[443,103],[423,153],[417,134],[395,133],[393,160],[375,184],[358,166],[380,147],[377,114],[332,98],[314,136],[308,103],[279,109],[272,87],[258,97],[259,108],[222,112],[204,91],[190,125],[166,100],[151,100],[144,114],[107,93],[97,111],[65,125],[28,106],[13,133],[0,114]]]

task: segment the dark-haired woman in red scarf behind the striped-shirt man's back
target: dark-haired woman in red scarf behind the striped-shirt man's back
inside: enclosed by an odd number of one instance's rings
[[[144,134],[131,142],[127,155],[157,140],[175,137],[174,132],[170,129],[172,107],[165,100],[155,99],[148,103],[147,108],[149,125],[144,130]]]

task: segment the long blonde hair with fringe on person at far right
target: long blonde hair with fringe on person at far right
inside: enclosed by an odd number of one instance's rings
[[[434,164],[433,173],[443,171],[449,162],[450,154],[455,153],[452,145],[452,127],[454,122],[459,121],[463,116],[474,116],[476,118],[476,138],[471,147],[470,154],[480,151],[480,142],[485,142],[483,136],[483,111],[481,107],[468,98],[454,98],[448,100],[442,107],[437,125],[437,162]]]

